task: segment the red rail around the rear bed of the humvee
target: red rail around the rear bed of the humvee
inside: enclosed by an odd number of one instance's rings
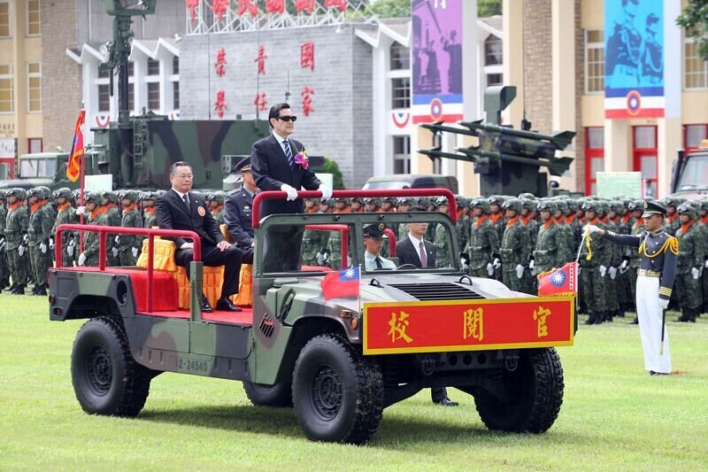
[[[155,236],[166,236],[166,237],[185,237],[191,239],[194,243],[194,256],[193,260],[195,262],[200,262],[202,260],[202,241],[199,239],[199,235],[194,231],[184,231],[181,229],[152,229],[152,228],[123,228],[119,226],[94,226],[94,225],[70,225],[63,224],[59,225],[57,228],[57,234],[54,237],[54,257],[57,260],[58,269],[62,268],[62,257],[61,257],[61,234],[64,231],[89,231],[91,233],[98,233],[98,268],[101,271],[105,270],[105,259],[106,259],[106,235],[134,235],[134,236],[147,236],[148,237],[148,312],[152,311],[152,265],[154,262],[154,251],[155,251]],[[187,268],[189,270],[189,267]]]

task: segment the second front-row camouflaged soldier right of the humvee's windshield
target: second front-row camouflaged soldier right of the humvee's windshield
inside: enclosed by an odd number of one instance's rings
[[[531,242],[528,229],[520,221],[521,200],[509,198],[504,201],[506,228],[502,236],[502,275],[504,285],[512,290],[527,290],[530,283],[525,277],[530,277],[527,264],[531,255]]]

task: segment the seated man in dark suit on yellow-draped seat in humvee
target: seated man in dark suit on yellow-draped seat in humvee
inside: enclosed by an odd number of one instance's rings
[[[231,295],[238,293],[239,273],[241,263],[253,261],[252,250],[242,250],[228,244],[221,231],[206,209],[204,197],[190,192],[193,181],[192,168],[187,162],[175,162],[170,167],[170,182],[172,190],[165,192],[156,201],[158,226],[160,229],[183,229],[196,232],[202,243],[202,261],[204,266],[224,266],[224,283],[221,285],[221,296],[217,302],[217,310],[240,312],[241,308],[229,300]],[[189,277],[189,262],[194,257],[194,243],[181,237],[173,238],[177,244],[174,261],[178,266],[187,269]],[[212,312],[206,297],[202,295],[202,311]]]

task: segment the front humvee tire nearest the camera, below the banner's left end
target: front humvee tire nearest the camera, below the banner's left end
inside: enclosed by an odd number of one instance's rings
[[[381,424],[381,368],[340,335],[313,337],[295,364],[293,405],[310,439],[366,443]]]

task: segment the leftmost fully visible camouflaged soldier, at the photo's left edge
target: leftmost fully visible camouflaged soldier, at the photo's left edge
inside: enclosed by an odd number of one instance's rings
[[[12,277],[10,292],[15,295],[24,295],[27,286],[29,253],[27,251],[29,238],[29,215],[25,198],[27,194],[22,189],[10,189],[5,193],[7,199],[7,216],[5,219],[5,240],[7,262]]]

